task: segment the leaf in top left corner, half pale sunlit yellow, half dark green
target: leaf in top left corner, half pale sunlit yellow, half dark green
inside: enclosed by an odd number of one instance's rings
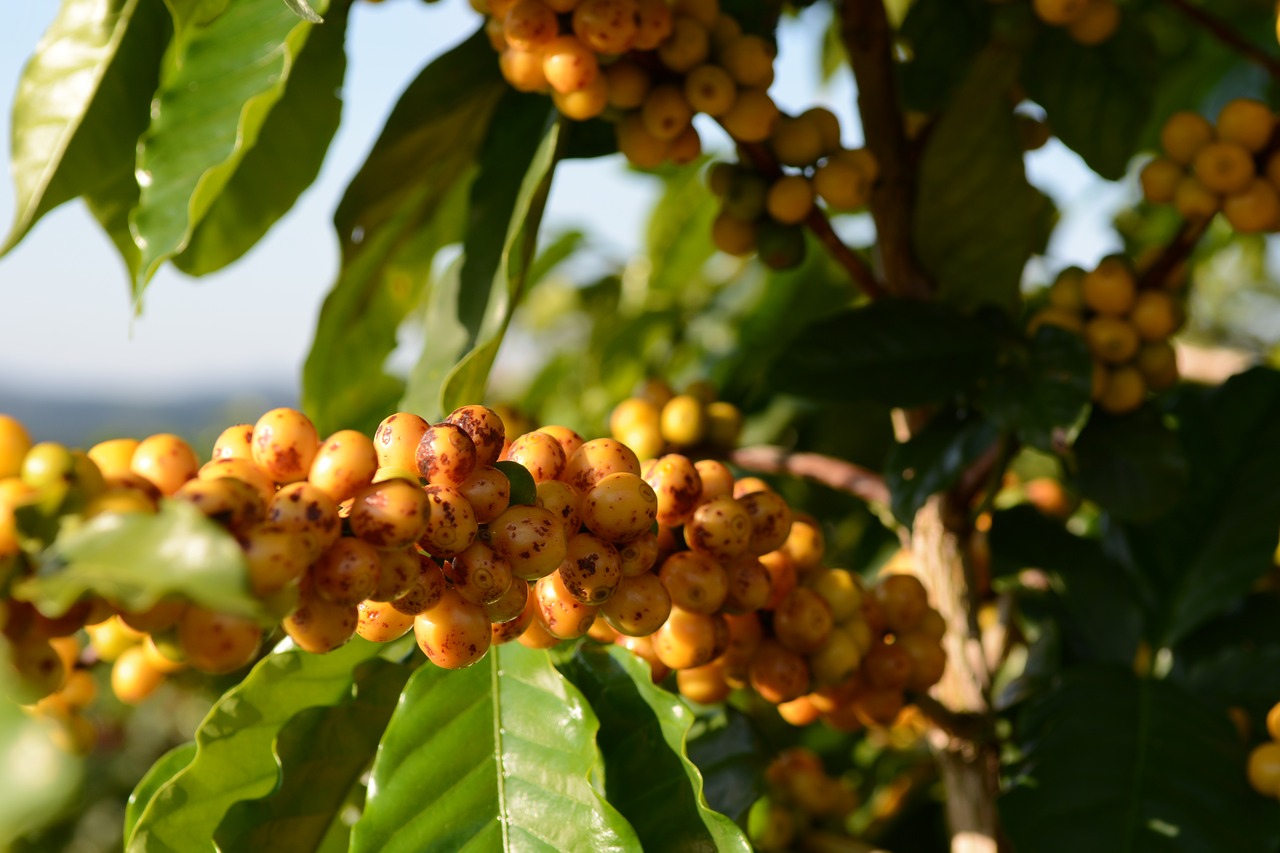
[[[166,18],[160,0],[61,4],[14,96],[9,165],[17,213],[0,255],[64,201],[120,175],[133,182]]]

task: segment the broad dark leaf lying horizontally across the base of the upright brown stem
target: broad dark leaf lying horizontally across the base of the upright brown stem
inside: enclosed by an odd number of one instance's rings
[[[887,406],[950,400],[995,361],[991,332],[937,302],[878,300],[801,330],[771,382],[801,397]]]

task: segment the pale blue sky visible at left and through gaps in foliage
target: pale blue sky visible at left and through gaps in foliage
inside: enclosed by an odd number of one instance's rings
[[[52,0],[0,10],[0,138],[22,67],[56,9]],[[822,8],[781,35],[774,97],[788,110],[827,104],[858,143],[847,77],[818,90]],[[114,248],[79,202],[46,215],[0,259],[0,391],[20,387],[59,397],[157,400],[244,388],[294,387],[311,330],[337,270],[330,216],[401,88],[431,56],[465,37],[477,17],[466,0],[358,3],[347,36],[349,67],[342,128],[317,183],[252,252],[200,279],[165,268],[133,318]],[[1066,206],[1055,263],[1091,261],[1115,246],[1097,205],[1117,190],[1060,146],[1029,159],[1033,179]],[[650,182],[620,158],[573,163],[556,178],[548,227],[585,225],[609,255],[634,251]],[[13,222],[13,188],[0,179],[0,234]],[[1073,210],[1094,209],[1088,216]],[[3,405],[3,400],[0,400]],[[3,406],[0,406],[3,407]]]

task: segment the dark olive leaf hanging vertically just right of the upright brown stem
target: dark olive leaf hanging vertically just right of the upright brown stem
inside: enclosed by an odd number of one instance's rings
[[[1012,310],[1036,247],[1043,199],[1027,183],[1009,92],[1018,56],[984,49],[929,134],[920,161],[915,247],[938,296],[961,309]]]

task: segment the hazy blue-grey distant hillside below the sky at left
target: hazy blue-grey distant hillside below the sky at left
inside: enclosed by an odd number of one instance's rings
[[[0,412],[22,420],[36,441],[88,447],[105,438],[177,433],[201,456],[209,453],[225,426],[252,423],[268,409],[293,405],[297,391],[292,388],[246,388],[137,402],[108,396],[44,396],[0,386]]]

